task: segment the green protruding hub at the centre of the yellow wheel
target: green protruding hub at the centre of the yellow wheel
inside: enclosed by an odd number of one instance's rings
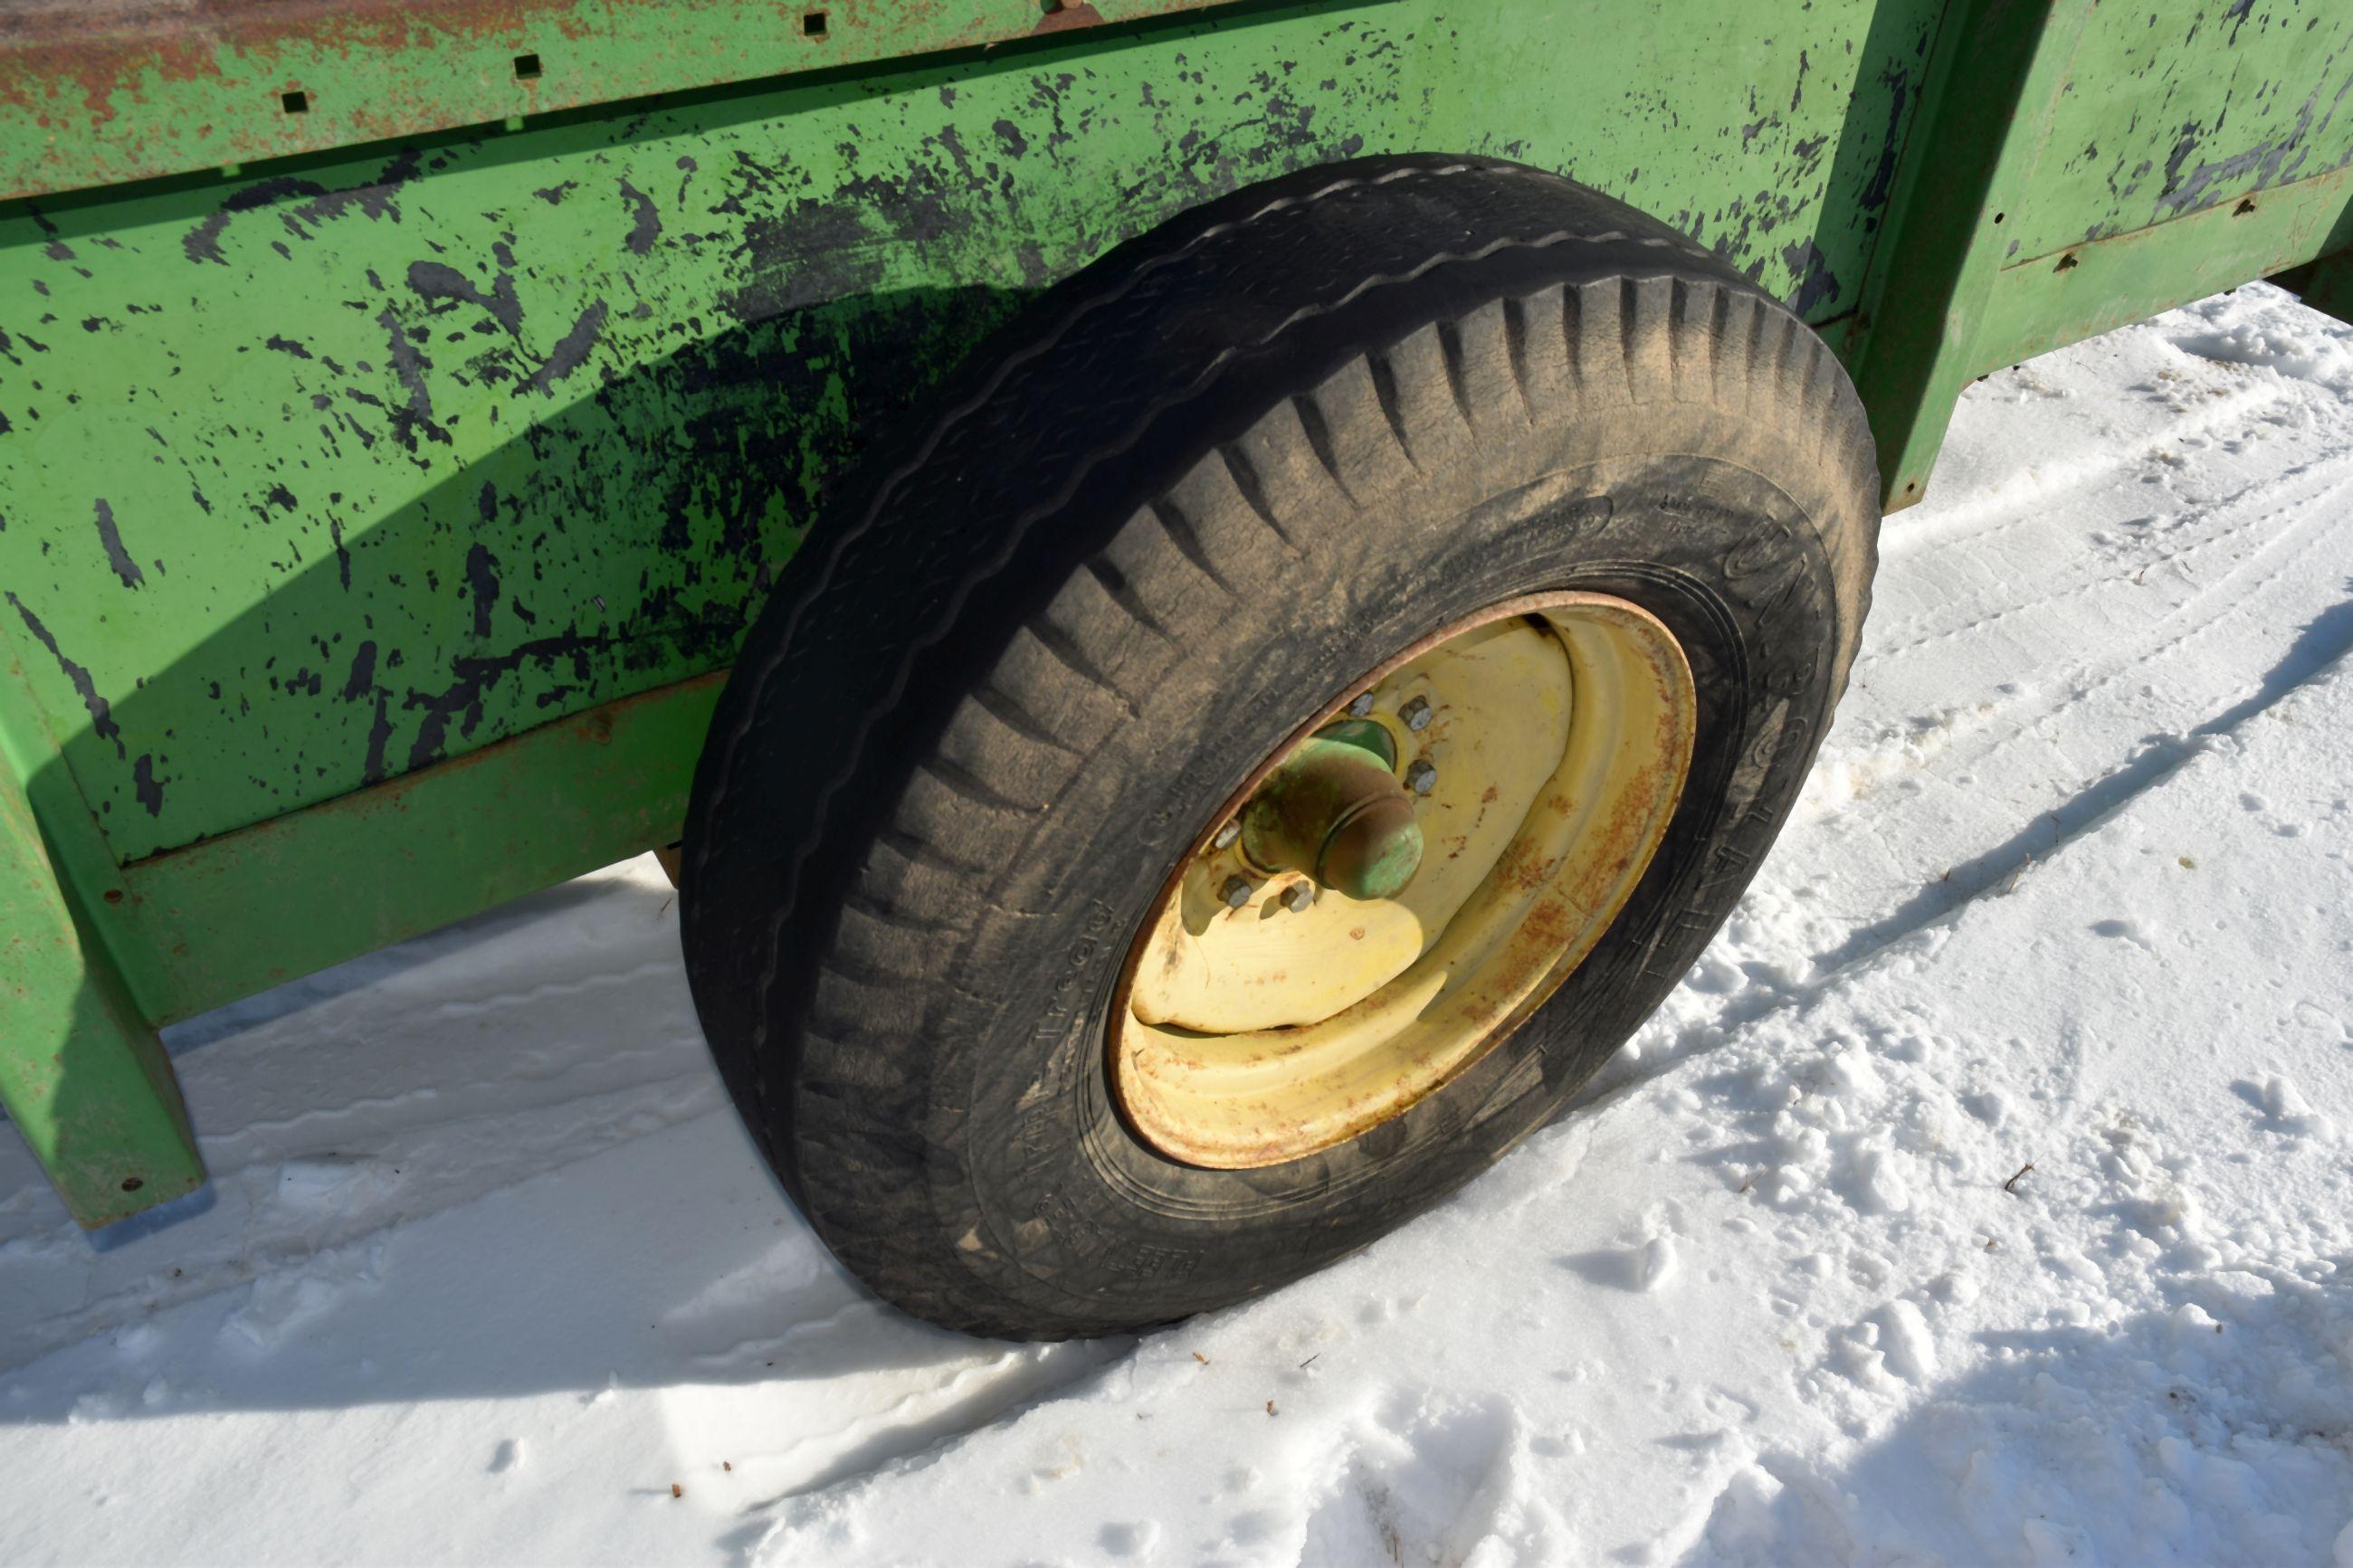
[[[1395,898],[1421,870],[1421,825],[1398,745],[1372,719],[1325,724],[1242,806],[1242,856],[1348,898]]]

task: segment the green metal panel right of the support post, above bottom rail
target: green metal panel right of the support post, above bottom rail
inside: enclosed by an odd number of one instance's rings
[[[2005,259],[2165,223],[2353,162],[2353,5],[2099,5],[2068,52]],[[2188,244],[2184,235],[2177,244]]]

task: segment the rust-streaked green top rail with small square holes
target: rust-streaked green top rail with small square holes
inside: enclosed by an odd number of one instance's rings
[[[1005,45],[1209,0],[0,0],[0,197]]]

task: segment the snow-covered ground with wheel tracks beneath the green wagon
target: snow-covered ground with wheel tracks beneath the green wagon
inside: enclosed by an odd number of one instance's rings
[[[2353,1566],[2348,498],[2268,287],[1977,386],[1584,1110],[1146,1340],[866,1300],[652,863],[179,1027],[209,1197],[0,1138],[0,1561]]]

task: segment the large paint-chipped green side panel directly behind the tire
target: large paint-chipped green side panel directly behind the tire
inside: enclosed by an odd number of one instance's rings
[[[7,632],[139,860],[725,665],[871,421],[1275,169],[1565,167],[1831,315],[1927,31],[1889,14],[1649,5],[1532,73],[1567,14],[1304,7],[19,207]]]

